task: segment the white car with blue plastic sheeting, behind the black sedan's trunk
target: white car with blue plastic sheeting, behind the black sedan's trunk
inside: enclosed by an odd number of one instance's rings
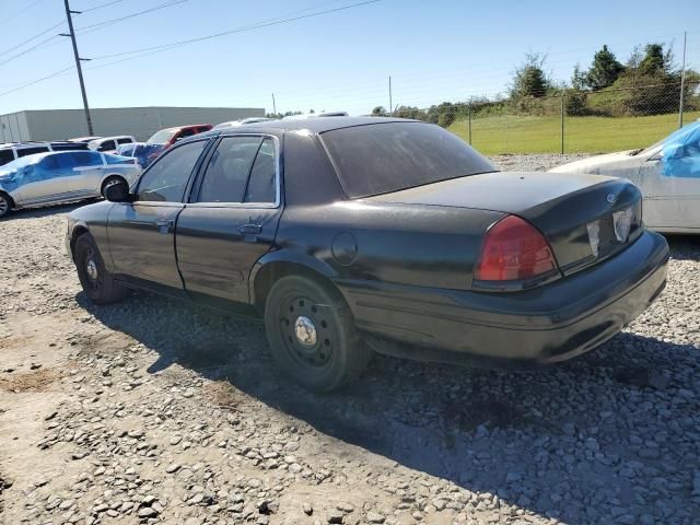
[[[592,156],[551,172],[627,178],[642,190],[646,228],[700,233],[700,120],[649,148]]]

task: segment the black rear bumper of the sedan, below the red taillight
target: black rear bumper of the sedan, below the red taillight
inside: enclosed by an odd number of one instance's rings
[[[373,346],[383,353],[532,368],[580,355],[618,334],[662,292],[667,260],[664,237],[644,232],[610,259],[523,292],[336,282],[358,328],[378,336],[383,343]]]

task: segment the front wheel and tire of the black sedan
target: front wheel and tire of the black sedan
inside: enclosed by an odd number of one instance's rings
[[[117,284],[105,268],[97,244],[89,233],[83,233],[75,241],[73,260],[80,284],[93,303],[116,303],[128,295],[129,291]]]

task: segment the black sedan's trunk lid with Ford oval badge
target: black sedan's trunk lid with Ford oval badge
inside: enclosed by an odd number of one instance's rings
[[[628,180],[600,175],[494,172],[366,200],[518,215],[545,234],[564,275],[615,255],[641,233],[639,189]],[[627,220],[628,236],[621,231]]]

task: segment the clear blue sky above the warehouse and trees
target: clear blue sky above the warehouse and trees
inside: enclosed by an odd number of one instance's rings
[[[109,0],[71,0],[88,10]],[[77,15],[77,28],[174,0],[120,0]],[[101,57],[307,15],[361,0],[187,0],[79,34],[81,55]],[[66,31],[62,0],[0,0],[0,62]],[[93,107],[254,106],[278,110],[311,108],[369,113],[394,104],[427,107],[471,95],[504,92],[513,68],[527,51],[548,54],[555,80],[567,80],[576,62],[587,66],[608,44],[625,60],[648,42],[674,43],[680,59],[688,31],[688,62],[700,69],[698,0],[448,1],[381,0],[345,11],[241,32],[165,52],[84,65]],[[56,38],[0,65],[0,93],[70,67],[69,38]],[[0,114],[21,109],[81,107],[74,70],[0,95]]]

